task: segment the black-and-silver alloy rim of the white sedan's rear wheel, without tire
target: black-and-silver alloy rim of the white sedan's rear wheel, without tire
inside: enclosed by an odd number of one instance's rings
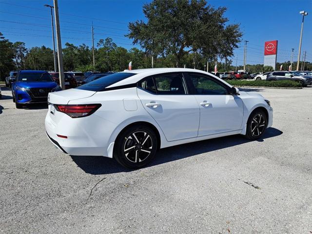
[[[123,147],[124,156],[131,162],[144,161],[152,152],[152,137],[144,131],[136,131],[125,137]]]

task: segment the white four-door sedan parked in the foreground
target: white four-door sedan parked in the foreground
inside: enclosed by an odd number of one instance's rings
[[[260,94],[185,68],[119,72],[50,93],[48,101],[45,129],[56,147],[114,157],[128,168],[146,165],[159,148],[235,134],[258,139],[273,122]]]

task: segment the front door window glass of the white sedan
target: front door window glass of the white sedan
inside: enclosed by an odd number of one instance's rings
[[[200,74],[189,74],[197,95],[227,95],[226,87],[215,80]]]

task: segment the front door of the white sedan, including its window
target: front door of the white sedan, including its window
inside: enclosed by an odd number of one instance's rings
[[[187,73],[185,77],[200,109],[198,137],[241,129],[243,101],[230,95],[230,87],[201,73]]]

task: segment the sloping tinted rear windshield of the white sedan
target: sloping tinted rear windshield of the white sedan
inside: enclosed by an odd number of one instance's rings
[[[83,89],[83,90],[89,90],[89,91],[103,91],[106,87],[115,84],[125,78],[129,78],[136,75],[135,73],[128,73],[128,72],[118,72],[114,73],[102,78],[98,78],[96,80],[93,80],[89,83],[83,84],[77,89]]]

